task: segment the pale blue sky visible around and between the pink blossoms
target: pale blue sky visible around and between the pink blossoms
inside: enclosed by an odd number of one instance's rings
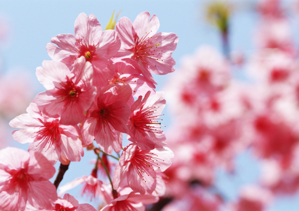
[[[158,32],[173,32],[179,37],[177,48],[172,54],[179,67],[185,55],[192,54],[201,45],[211,45],[221,51],[221,40],[218,31],[211,27],[204,18],[204,0],[0,0],[0,21],[9,29],[8,37],[0,43],[0,75],[6,71],[22,71],[35,87],[34,94],[44,91],[44,87],[35,76],[35,69],[42,61],[50,60],[46,44],[57,34],[74,33],[74,22],[81,12],[95,14],[104,29],[113,11],[122,11],[119,17],[127,16],[133,22],[136,16],[149,11],[156,14],[160,21]],[[240,50],[245,55],[255,51],[252,40],[258,14],[254,11],[255,0],[235,0],[234,13],[230,19],[230,49]],[[288,1],[289,2],[289,1]],[[286,3],[286,5],[289,5]],[[294,33],[298,35],[298,19],[291,19]],[[2,28],[3,29],[3,28]],[[296,30],[295,30],[296,29]],[[1,29],[0,29],[1,30]],[[297,42],[298,43],[298,42]],[[242,73],[236,73],[240,77]],[[162,91],[168,75],[154,76]],[[5,91],[5,90],[3,90]],[[167,99],[166,99],[167,100]],[[170,128],[171,114],[165,109],[163,124]],[[11,129],[12,131],[12,129]],[[19,144],[11,138],[9,145],[27,150],[27,144]],[[91,151],[85,151],[80,163],[72,162],[61,185],[79,176],[89,175],[93,168],[90,159],[96,158]],[[258,180],[259,165],[246,152],[236,159],[235,175],[219,170],[216,186],[229,199],[237,196],[238,188],[243,184]],[[58,165],[56,165],[58,167]],[[57,168],[56,168],[57,169]],[[52,179],[53,180],[53,179]],[[79,203],[90,203],[86,198],[79,198],[80,187],[70,192]],[[98,201],[99,202],[99,201]],[[97,206],[98,202],[90,203]],[[276,200],[268,211],[297,211],[299,196],[283,197]]]

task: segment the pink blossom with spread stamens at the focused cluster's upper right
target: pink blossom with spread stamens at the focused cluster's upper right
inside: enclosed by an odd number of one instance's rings
[[[122,17],[116,24],[122,40],[122,48],[118,56],[136,60],[142,69],[142,74],[152,82],[152,75],[173,72],[175,65],[171,57],[176,48],[178,37],[174,33],[156,33],[159,20],[149,12],[140,13],[134,23],[127,17]]]

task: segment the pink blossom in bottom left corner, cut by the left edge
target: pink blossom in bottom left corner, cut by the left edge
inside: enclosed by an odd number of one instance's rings
[[[35,208],[49,208],[57,199],[48,181],[55,168],[42,154],[6,147],[0,150],[0,210],[24,211],[26,202]]]

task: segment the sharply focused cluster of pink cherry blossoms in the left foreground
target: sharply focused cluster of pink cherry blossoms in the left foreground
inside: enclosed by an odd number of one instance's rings
[[[178,37],[157,33],[156,15],[149,18],[149,12],[139,14],[133,23],[122,17],[116,30],[102,31],[93,14],[81,13],[74,35],[59,34],[47,44],[52,61],[36,69],[46,91],[36,95],[27,113],[9,123],[21,129],[12,136],[29,143],[29,154],[14,148],[0,154],[18,154],[0,159],[7,160],[0,163],[0,201],[7,201],[0,210],[94,210],[67,194],[57,198],[59,183],[48,181],[58,160],[62,166],[80,161],[84,147],[96,153],[95,168],[90,176],[66,186],[86,183],[83,192],[102,197],[103,210],[142,209],[164,194],[162,172],[171,165],[173,153],[161,130],[165,100],[162,92],[155,92],[151,73],[174,71],[171,54]],[[126,147],[124,133],[132,142]],[[120,158],[113,155],[120,152]],[[118,160],[113,179],[107,157]],[[98,179],[100,169],[105,169],[110,185]],[[38,191],[42,188],[49,191]]]

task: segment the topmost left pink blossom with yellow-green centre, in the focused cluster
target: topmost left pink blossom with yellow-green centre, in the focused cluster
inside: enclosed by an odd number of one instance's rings
[[[52,37],[52,43],[47,44],[51,59],[60,61],[72,67],[74,61],[84,56],[92,64],[94,70],[93,83],[97,86],[106,85],[114,72],[106,68],[110,59],[121,47],[121,41],[116,31],[105,30],[97,18],[91,14],[79,14],[75,21],[75,35],[59,34]]]

